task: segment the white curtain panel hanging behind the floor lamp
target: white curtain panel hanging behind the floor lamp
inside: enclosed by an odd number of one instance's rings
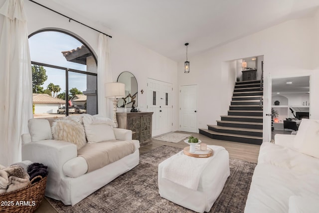
[[[99,115],[113,117],[110,99],[105,97],[105,83],[112,82],[110,48],[108,36],[100,33],[98,43],[98,109]]]

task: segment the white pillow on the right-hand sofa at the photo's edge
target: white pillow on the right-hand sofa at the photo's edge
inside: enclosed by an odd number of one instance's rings
[[[297,151],[319,158],[319,121],[309,120],[308,123],[303,144]]]

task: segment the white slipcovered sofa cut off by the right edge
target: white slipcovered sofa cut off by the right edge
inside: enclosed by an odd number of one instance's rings
[[[318,211],[319,121],[305,119],[297,135],[261,145],[245,213]]]

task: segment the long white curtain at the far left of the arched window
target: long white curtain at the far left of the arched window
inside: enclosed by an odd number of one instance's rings
[[[6,0],[0,37],[0,164],[21,161],[32,115],[32,71],[23,0]]]

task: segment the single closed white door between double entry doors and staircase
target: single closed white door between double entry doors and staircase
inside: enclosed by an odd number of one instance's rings
[[[197,85],[180,86],[179,130],[197,133]]]

